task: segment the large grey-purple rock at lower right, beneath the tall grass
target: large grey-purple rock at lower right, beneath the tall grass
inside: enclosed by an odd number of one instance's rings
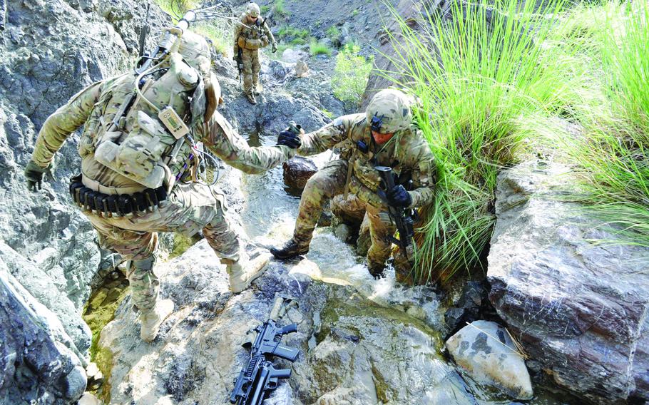
[[[649,249],[616,243],[566,202],[571,181],[536,161],[499,175],[489,299],[560,386],[598,404],[646,401]]]

